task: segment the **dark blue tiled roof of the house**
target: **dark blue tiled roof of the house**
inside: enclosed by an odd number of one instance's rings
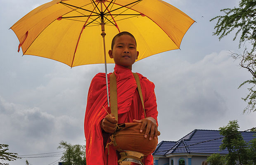
[[[256,138],[254,136],[256,132],[242,132],[241,134],[247,142]],[[193,130],[178,141],[161,141],[152,155],[165,156],[175,153],[227,154],[227,149],[219,150],[222,139],[218,130]]]

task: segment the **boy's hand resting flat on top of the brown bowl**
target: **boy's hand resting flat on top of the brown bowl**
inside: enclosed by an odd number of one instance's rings
[[[140,132],[143,132],[145,127],[147,127],[144,137],[145,138],[149,137],[149,140],[152,140],[153,137],[154,139],[156,139],[156,137],[160,135],[158,133],[158,129],[157,129],[158,126],[156,125],[156,120],[152,117],[147,117],[142,120],[133,120],[133,122],[142,123]],[[149,132],[150,132],[150,135],[149,135]]]

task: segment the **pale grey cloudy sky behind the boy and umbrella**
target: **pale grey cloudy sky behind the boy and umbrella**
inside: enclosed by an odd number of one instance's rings
[[[66,64],[17,52],[19,41],[9,28],[47,0],[1,0],[0,5],[0,144],[9,152],[33,155],[63,151],[61,140],[85,145],[83,122],[88,88],[104,65],[70,69]],[[256,127],[256,112],[242,113],[241,97],[251,78],[230,52],[242,52],[234,33],[218,40],[212,35],[220,9],[239,0],[166,0],[196,21],[180,50],[137,61],[138,72],[155,84],[160,141],[177,141],[194,129],[218,130],[238,120],[240,130]],[[114,65],[108,64],[108,72]],[[55,165],[58,157],[27,158],[31,165]],[[10,162],[25,165],[26,158]]]

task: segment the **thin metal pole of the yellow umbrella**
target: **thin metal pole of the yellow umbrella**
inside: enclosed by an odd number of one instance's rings
[[[102,0],[100,1],[100,5],[101,5],[101,35],[103,38],[103,47],[104,47],[104,61],[105,61],[105,73],[106,73],[106,84],[107,84],[107,105],[108,107],[110,107],[109,105],[109,83],[107,80],[107,58],[106,58],[106,45],[105,45],[105,24],[104,24],[104,15],[103,15],[103,10],[102,10]]]

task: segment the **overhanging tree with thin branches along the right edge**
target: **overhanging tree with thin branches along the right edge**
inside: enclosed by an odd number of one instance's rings
[[[246,111],[256,111],[256,91],[254,87],[256,85],[256,1],[255,0],[241,0],[239,2],[239,7],[234,7],[233,9],[226,8],[220,10],[224,12],[223,16],[216,16],[210,21],[218,19],[215,32],[213,35],[218,35],[219,40],[228,35],[232,31],[236,31],[235,37],[237,38],[241,34],[239,39],[239,48],[246,42],[249,42],[251,50],[247,51],[245,47],[243,54],[236,54],[231,52],[231,57],[239,60],[239,65],[242,68],[248,69],[252,75],[251,80],[244,81],[239,88],[249,83],[252,85],[248,88],[249,94],[247,97],[242,98],[244,101],[248,101],[247,107],[244,108]]]

